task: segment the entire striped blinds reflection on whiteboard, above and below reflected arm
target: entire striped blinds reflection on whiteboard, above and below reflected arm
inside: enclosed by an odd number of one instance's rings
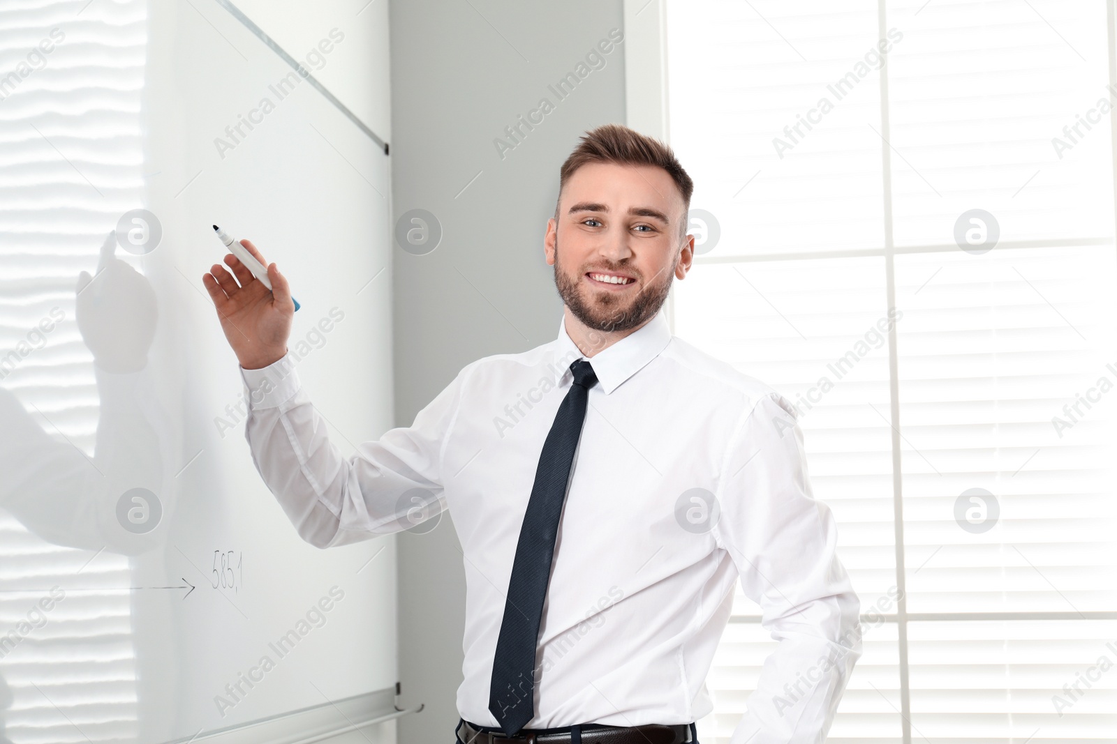
[[[73,267],[84,257],[85,270],[97,271],[105,235],[142,196],[145,17],[142,1],[0,6],[0,76],[8,76],[0,77],[0,354],[64,315],[45,344],[30,337],[37,348],[3,374],[0,395],[87,457],[95,454],[98,394],[75,322]],[[51,51],[35,54],[44,40]],[[50,544],[2,506],[0,638],[15,634],[18,642],[0,653],[0,738],[134,738],[128,592],[74,591],[128,587],[127,559]],[[71,591],[42,620],[36,608],[48,592],[38,589],[56,586]]]

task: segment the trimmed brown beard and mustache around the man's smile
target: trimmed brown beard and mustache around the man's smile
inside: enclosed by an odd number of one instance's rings
[[[621,297],[608,290],[596,292],[592,288],[584,287],[581,282],[584,271],[576,276],[567,274],[562,269],[558,254],[558,238],[556,235],[555,287],[558,289],[558,296],[563,303],[570,308],[575,318],[582,321],[582,325],[604,332],[639,328],[659,312],[663,302],[667,301],[667,294],[671,289],[671,278],[679,263],[679,257],[676,255],[670,271],[663,272],[665,277],[661,279],[658,276],[652,277],[652,283],[645,284],[643,289],[638,290],[634,296]],[[594,267],[594,269],[636,274],[636,281],[642,279],[634,268],[624,263]]]

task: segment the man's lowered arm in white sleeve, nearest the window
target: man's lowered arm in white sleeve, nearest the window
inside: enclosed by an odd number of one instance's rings
[[[731,744],[824,741],[861,655],[860,600],[833,514],[811,493],[791,405],[761,398],[728,443],[714,535],[779,641]]]

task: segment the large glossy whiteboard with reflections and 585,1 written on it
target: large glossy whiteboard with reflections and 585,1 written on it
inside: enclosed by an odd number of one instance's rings
[[[0,70],[42,50],[0,83],[0,741],[189,740],[393,687],[394,538],[298,538],[201,283],[211,224],[251,238],[302,303],[289,348],[331,438],[378,438],[389,158],[211,1],[0,25]],[[360,42],[338,30],[326,67]]]

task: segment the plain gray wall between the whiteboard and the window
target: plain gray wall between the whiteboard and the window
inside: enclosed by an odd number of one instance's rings
[[[424,209],[443,230],[426,255],[393,253],[395,418],[409,425],[466,364],[557,334],[543,234],[577,137],[624,122],[623,44],[566,98],[547,86],[623,31],[623,16],[621,0],[397,0],[390,16],[394,219]],[[541,98],[554,110],[502,160],[493,141]],[[427,705],[400,721],[399,741],[449,744],[465,618],[449,515],[400,535],[399,587],[401,704]]]

